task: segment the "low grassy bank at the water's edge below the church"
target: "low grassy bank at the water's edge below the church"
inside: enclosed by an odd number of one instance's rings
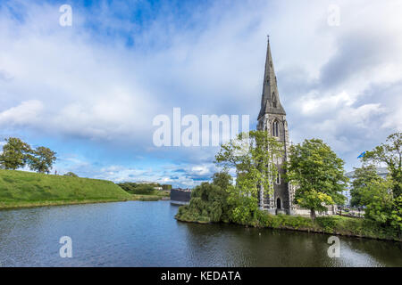
[[[193,215],[188,215],[186,211],[179,211],[176,219],[182,222],[209,223],[207,219],[198,219]],[[319,216],[313,220],[306,216],[273,216],[261,213],[259,224],[244,224],[246,226],[258,226],[263,228],[292,230],[301,232],[320,232],[344,236],[355,236],[379,240],[402,241],[400,233],[395,229],[383,227],[381,224],[365,218],[347,216]]]

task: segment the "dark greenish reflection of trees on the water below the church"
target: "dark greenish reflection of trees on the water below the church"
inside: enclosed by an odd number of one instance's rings
[[[330,235],[245,228],[231,224],[182,224],[188,259],[198,266],[402,265],[396,242],[339,236],[340,258],[327,254]],[[260,235],[261,233],[261,235]]]

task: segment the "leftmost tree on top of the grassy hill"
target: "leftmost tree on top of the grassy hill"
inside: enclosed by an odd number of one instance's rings
[[[1,167],[13,170],[24,167],[32,152],[29,144],[17,137],[9,137],[5,142],[3,153],[0,154]]]

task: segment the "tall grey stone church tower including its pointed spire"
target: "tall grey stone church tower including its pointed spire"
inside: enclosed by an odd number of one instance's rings
[[[259,207],[268,210],[271,214],[286,213],[292,214],[294,198],[294,190],[289,183],[283,179],[284,169],[283,163],[288,159],[289,151],[289,131],[288,122],[286,121],[286,112],[282,107],[278,85],[273,69],[271,46],[268,38],[268,46],[266,51],[265,72],[263,95],[261,99],[261,110],[258,115],[257,130],[266,130],[279,142],[283,143],[283,157],[278,158],[275,162],[278,167],[279,175],[274,182],[273,195],[264,194],[264,190],[259,192]]]

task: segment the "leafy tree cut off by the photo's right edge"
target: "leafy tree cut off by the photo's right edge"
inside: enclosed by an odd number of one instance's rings
[[[385,163],[392,178],[395,197],[402,193],[402,133],[390,134],[386,143],[376,146],[373,151],[365,151],[363,162]]]

